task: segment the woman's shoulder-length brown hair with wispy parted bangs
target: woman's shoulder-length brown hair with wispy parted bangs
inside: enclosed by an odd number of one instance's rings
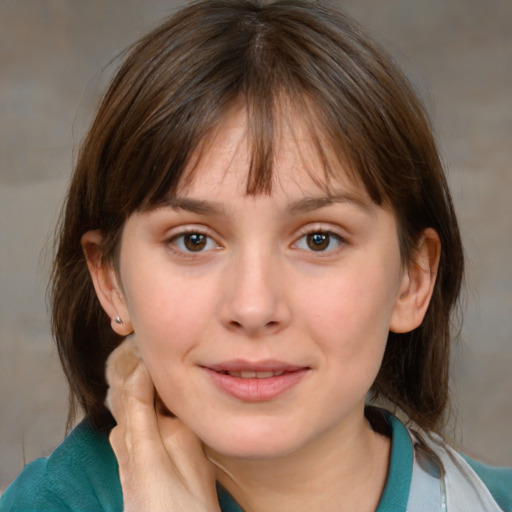
[[[233,104],[248,112],[247,193],[269,193],[279,105],[305,120],[325,163],[348,161],[372,200],[396,215],[404,261],[434,228],[442,254],[420,327],[390,333],[374,397],[425,429],[448,404],[450,319],[463,276],[457,221],[432,131],[391,59],[326,2],[204,0],[131,49],[78,156],[52,280],[53,331],[77,402],[105,426],[105,360],[121,339],[96,298],[80,239],[101,230],[114,262],[126,218],[172,194],[194,150]],[[275,144],[274,144],[275,145]],[[73,414],[72,407],[70,414]]]

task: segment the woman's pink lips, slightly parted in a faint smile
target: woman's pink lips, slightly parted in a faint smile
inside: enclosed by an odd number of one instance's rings
[[[310,370],[271,360],[235,360],[202,368],[219,391],[245,402],[277,399],[298,385]]]

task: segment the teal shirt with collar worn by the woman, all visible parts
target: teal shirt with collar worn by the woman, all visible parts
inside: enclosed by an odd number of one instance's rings
[[[392,433],[386,487],[376,512],[406,512],[413,448],[404,425],[386,414]],[[512,511],[512,469],[491,468],[467,459],[498,505]],[[222,512],[242,512],[219,487]],[[80,423],[45,459],[29,464],[0,501],[2,512],[121,512],[123,496],[115,455],[105,434]]]

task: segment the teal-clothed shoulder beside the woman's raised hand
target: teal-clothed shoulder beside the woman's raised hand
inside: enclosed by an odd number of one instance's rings
[[[117,461],[108,438],[80,423],[45,459],[29,464],[1,501],[2,512],[122,510]]]

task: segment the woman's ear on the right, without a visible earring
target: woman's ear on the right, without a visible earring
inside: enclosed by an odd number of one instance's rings
[[[439,235],[432,228],[425,229],[411,262],[403,271],[390,331],[405,333],[421,325],[434,291],[440,256]]]

